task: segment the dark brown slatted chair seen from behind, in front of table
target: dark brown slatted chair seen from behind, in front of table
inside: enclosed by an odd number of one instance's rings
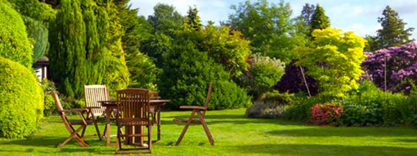
[[[117,141],[115,153],[151,153],[152,150],[152,121],[147,89],[122,89],[117,91],[116,116]],[[147,127],[147,133],[142,130]],[[122,133],[122,127],[125,133]],[[124,143],[136,148],[122,148],[121,137]],[[147,137],[147,146],[143,144],[143,137]]]

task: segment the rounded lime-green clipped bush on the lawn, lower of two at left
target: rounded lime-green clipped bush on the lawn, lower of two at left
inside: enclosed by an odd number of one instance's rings
[[[42,119],[44,94],[22,64],[0,57],[0,137],[28,137]]]

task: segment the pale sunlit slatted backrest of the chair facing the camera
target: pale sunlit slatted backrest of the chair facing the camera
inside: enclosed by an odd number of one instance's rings
[[[110,100],[106,85],[84,85],[84,97],[86,107],[99,107],[92,109],[92,114],[95,116],[100,116],[105,111],[98,101]]]

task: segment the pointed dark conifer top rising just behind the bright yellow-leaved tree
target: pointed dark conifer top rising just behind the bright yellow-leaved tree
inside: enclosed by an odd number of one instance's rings
[[[316,5],[316,10],[314,10],[313,15],[310,19],[310,33],[313,33],[316,29],[325,29],[330,27],[329,17],[325,15],[325,9],[323,9],[319,4]]]

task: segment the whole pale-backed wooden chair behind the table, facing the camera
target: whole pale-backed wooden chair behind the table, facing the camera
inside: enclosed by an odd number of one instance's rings
[[[106,85],[84,85],[84,99],[85,107],[92,110],[88,119],[92,119],[95,125],[97,125],[97,122],[106,121],[106,109],[101,106],[101,103],[99,103],[99,101],[110,100]],[[99,131],[97,132],[99,134],[100,141],[101,137],[104,137],[106,134],[106,128],[107,127],[104,127],[104,131],[102,133],[103,135],[100,135]]]

